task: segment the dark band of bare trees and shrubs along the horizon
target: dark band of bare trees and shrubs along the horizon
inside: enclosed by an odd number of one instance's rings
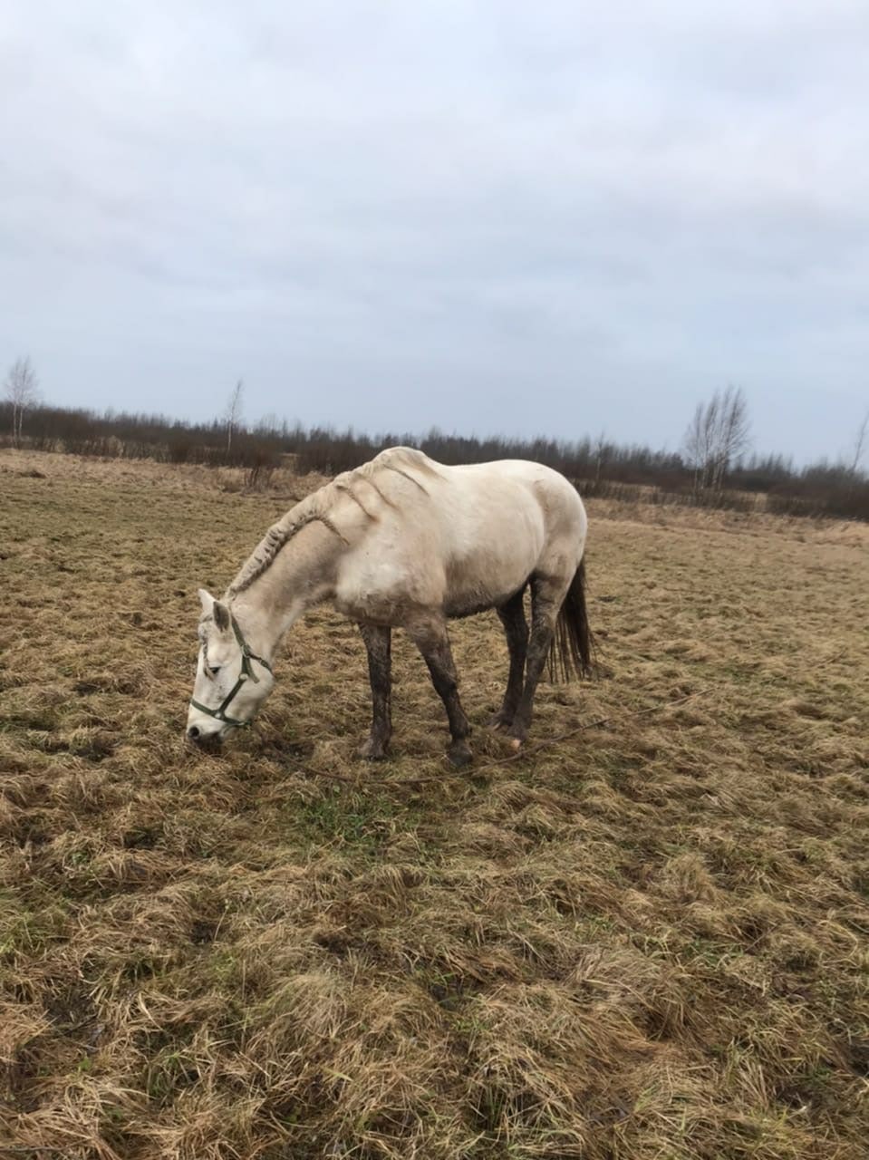
[[[161,463],[242,467],[248,483],[266,480],[292,456],[298,474],[335,474],[359,466],[385,447],[410,444],[441,463],[535,459],[574,480],[588,496],[610,495],[657,503],[697,503],[782,514],[869,520],[869,478],[843,464],[797,469],[783,456],[739,459],[726,490],[704,493],[696,473],[673,451],[620,445],[607,440],[476,438],[432,430],[427,435],[357,435],[352,429],[305,429],[278,420],[236,427],[227,447],[226,422],[183,423],[164,415],[41,406],[28,412],[24,445],[101,458],[149,458]],[[0,442],[13,441],[10,404],[0,403]]]

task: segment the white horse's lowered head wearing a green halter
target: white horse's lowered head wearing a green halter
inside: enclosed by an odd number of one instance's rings
[[[200,657],[187,735],[203,745],[249,725],[275,681],[268,660],[251,652],[227,606],[204,588],[200,588]]]

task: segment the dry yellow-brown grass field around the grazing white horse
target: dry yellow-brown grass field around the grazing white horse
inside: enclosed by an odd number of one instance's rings
[[[484,616],[470,774],[401,638],[356,762],[328,610],[191,752],[196,588],[310,486],[0,452],[0,1157],[864,1157],[869,529],[592,503],[517,760]]]

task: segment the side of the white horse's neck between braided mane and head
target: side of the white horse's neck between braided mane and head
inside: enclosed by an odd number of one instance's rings
[[[248,643],[273,657],[284,633],[305,612],[334,594],[345,544],[323,523],[303,528],[269,567],[233,600]]]

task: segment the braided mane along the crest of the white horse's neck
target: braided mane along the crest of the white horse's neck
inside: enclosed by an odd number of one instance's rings
[[[343,539],[343,536],[341,536],[341,532],[330,519],[330,513],[342,495],[348,495],[362,508],[369,520],[375,520],[376,516],[371,515],[356,494],[355,486],[357,484],[367,483],[384,503],[392,507],[392,501],[383,494],[375,483],[374,476],[378,471],[394,471],[404,476],[405,479],[410,479],[422,492],[426,492],[420,480],[408,473],[407,469],[410,467],[414,467],[423,474],[437,474],[434,464],[422,451],[410,447],[393,447],[386,451],[381,451],[369,463],[363,463],[362,466],[355,467],[353,471],[345,471],[342,474],[336,476],[331,483],[324,484],[323,487],[312,492],[306,499],[300,500],[277,523],[271,524],[253,553],[241,566],[241,571],[226,589],[225,599],[231,600],[233,596],[238,596],[239,593],[245,592],[246,588],[249,588],[254,580],[271,566],[281,549],[309,523],[323,523],[330,531]]]

